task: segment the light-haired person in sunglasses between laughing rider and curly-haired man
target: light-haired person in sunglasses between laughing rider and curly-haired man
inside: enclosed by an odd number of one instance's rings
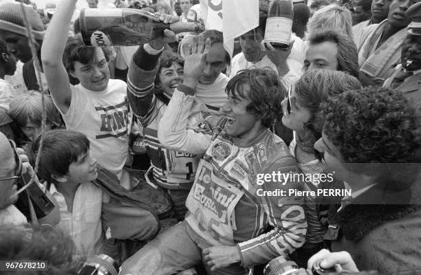
[[[295,156],[303,173],[323,173],[323,166],[316,159],[314,142],[321,137],[321,127],[316,122],[316,115],[321,111],[320,104],[329,96],[341,94],[349,89],[360,89],[358,79],[345,72],[316,69],[305,72],[296,83],[294,93],[282,102],[282,123],[294,131],[290,143],[290,153]],[[321,184],[319,179],[305,185],[306,190],[316,190]],[[306,197],[307,236],[303,247],[292,255],[294,261],[305,266],[315,252],[324,248],[323,236],[327,226],[320,221],[320,207],[316,197]]]

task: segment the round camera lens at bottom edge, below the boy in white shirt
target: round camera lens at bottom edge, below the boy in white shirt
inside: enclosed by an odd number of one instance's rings
[[[110,256],[99,254],[87,259],[78,275],[118,275],[118,265]]]

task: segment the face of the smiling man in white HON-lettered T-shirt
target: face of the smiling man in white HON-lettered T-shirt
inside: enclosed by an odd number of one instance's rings
[[[96,47],[95,58],[89,64],[74,61],[74,72],[70,74],[78,78],[85,89],[104,91],[108,86],[109,69],[107,59],[100,47]]]

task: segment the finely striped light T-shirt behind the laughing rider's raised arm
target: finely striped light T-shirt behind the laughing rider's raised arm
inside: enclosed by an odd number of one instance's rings
[[[212,84],[197,84],[196,98],[213,107],[221,108],[228,100],[225,87],[230,78],[220,73]]]

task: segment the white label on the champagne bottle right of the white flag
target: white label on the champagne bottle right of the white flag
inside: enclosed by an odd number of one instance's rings
[[[265,42],[290,44],[292,20],[285,17],[266,19]]]

